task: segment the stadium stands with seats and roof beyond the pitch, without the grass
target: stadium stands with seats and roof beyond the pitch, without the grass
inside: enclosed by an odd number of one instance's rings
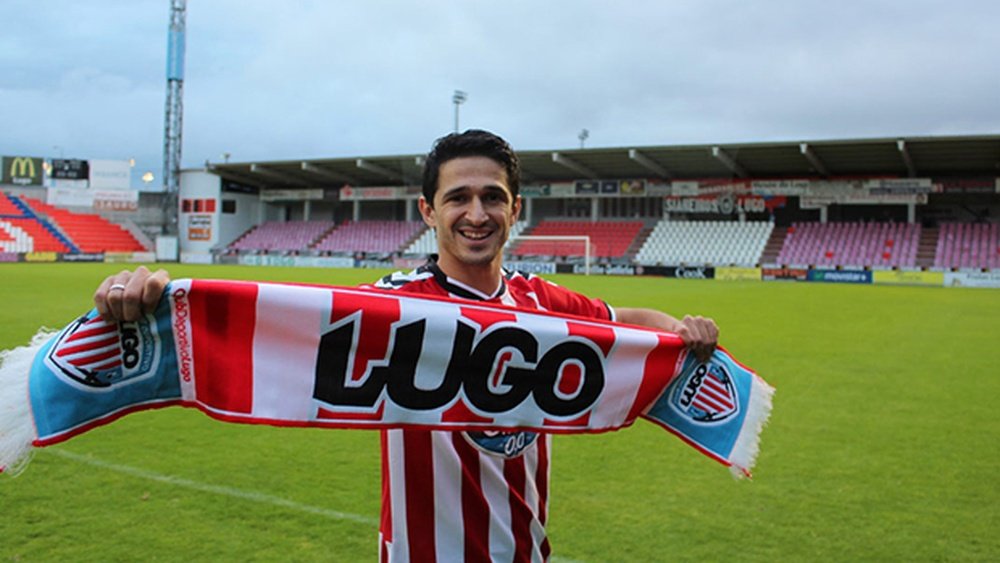
[[[506,262],[536,273],[998,287],[997,154],[992,136],[523,152],[524,211]],[[94,189],[91,207],[72,205],[81,195],[63,186],[89,190],[81,171],[99,163],[5,157],[0,256],[412,268],[436,248],[416,206],[422,158],[183,170],[172,239],[160,234],[163,194]]]

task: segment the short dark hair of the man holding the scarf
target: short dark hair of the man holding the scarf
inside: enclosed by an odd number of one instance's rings
[[[507,141],[489,131],[469,129],[464,133],[445,135],[434,142],[434,148],[424,161],[423,195],[428,204],[434,205],[434,193],[437,191],[441,165],[465,156],[485,156],[503,166],[507,171],[510,194],[514,198],[517,197],[521,190],[521,163],[514,149]]]

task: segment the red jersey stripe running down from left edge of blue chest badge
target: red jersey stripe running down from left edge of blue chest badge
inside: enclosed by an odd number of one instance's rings
[[[452,445],[462,461],[462,526],[465,560],[490,560],[490,508],[479,483],[479,451],[459,432],[451,435]]]

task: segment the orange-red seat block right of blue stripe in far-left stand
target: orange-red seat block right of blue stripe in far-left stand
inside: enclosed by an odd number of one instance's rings
[[[54,223],[81,252],[142,252],[147,250],[132,233],[94,213],[72,211],[23,198],[39,215]]]

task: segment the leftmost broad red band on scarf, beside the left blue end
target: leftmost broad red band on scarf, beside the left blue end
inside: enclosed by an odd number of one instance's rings
[[[195,280],[191,303],[195,392],[198,400],[234,413],[253,410],[253,333],[257,321],[257,285],[225,283],[225,291],[196,291],[217,282]],[[212,295],[208,312],[206,295]],[[219,354],[225,350],[225,354]],[[198,377],[198,374],[206,377]]]

